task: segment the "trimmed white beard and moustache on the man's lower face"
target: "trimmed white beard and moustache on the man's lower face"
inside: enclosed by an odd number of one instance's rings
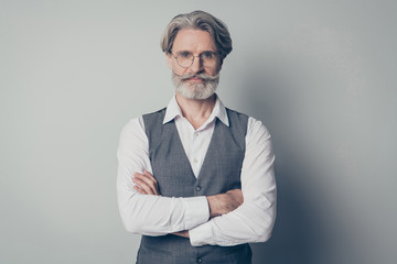
[[[189,82],[187,79],[192,77],[202,78],[203,82]],[[176,75],[172,73],[172,82],[175,86],[175,91],[186,99],[205,100],[215,94],[219,82],[219,75],[210,76],[206,74],[197,75]]]

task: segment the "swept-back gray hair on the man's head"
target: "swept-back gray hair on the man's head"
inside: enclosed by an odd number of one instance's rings
[[[171,20],[161,36],[160,46],[162,51],[167,54],[172,53],[172,45],[178,32],[189,28],[206,31],[213,36],[221,61],[232,52],[232,38],[226,24],[214,15],[201,10],[179,14]]]

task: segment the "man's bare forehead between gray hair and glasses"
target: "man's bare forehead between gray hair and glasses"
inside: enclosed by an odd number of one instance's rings
[[[216,45],[208,32],[196,29],[183,29],[178,32],[172,50],[174,52],[189,51],[194,53],[204,51],[216,52]]]

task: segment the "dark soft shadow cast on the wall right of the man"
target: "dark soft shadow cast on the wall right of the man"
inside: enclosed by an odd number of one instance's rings
[[[268,242],[251,244],[253,263],[326,263],[322,260],[322,253],[325,253],[322,249],[326,248],[325,232],[312,205],[312,199],[321,198],[311,197],[309,191],[315,186],[310,179],[315,178],[316,173],[311,163],[304,161],[304,153],[290,144],[298,140],[293,139],[293,125],[289,124],[293,109],[289,109],[288,98],[293,95],[288,92],[293,87],[288,87],[286,76],[277,76],[280,75],[250,72],[245,94],[238,97],[244,106],[249,106],[248,113],[269,129],[276,153],[277,220]]]

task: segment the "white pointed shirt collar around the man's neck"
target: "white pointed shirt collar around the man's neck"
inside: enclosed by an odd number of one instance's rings
[[[217,95],[215,95],[215,96],[216,96],[215,106],[214,106],[214,109],[213,109],[208,120],[218,118],[225,125],[229,127],[226,108],[223,105],[223,102],[221,101],[219,97]],[[170,103],[167,107],[163,124],[170,122],[171,120],[173,120],[176,117],[182,118],[183,114],[182,114],[180,106],[176,102],[175,96],[173,96],[171,98]]]

